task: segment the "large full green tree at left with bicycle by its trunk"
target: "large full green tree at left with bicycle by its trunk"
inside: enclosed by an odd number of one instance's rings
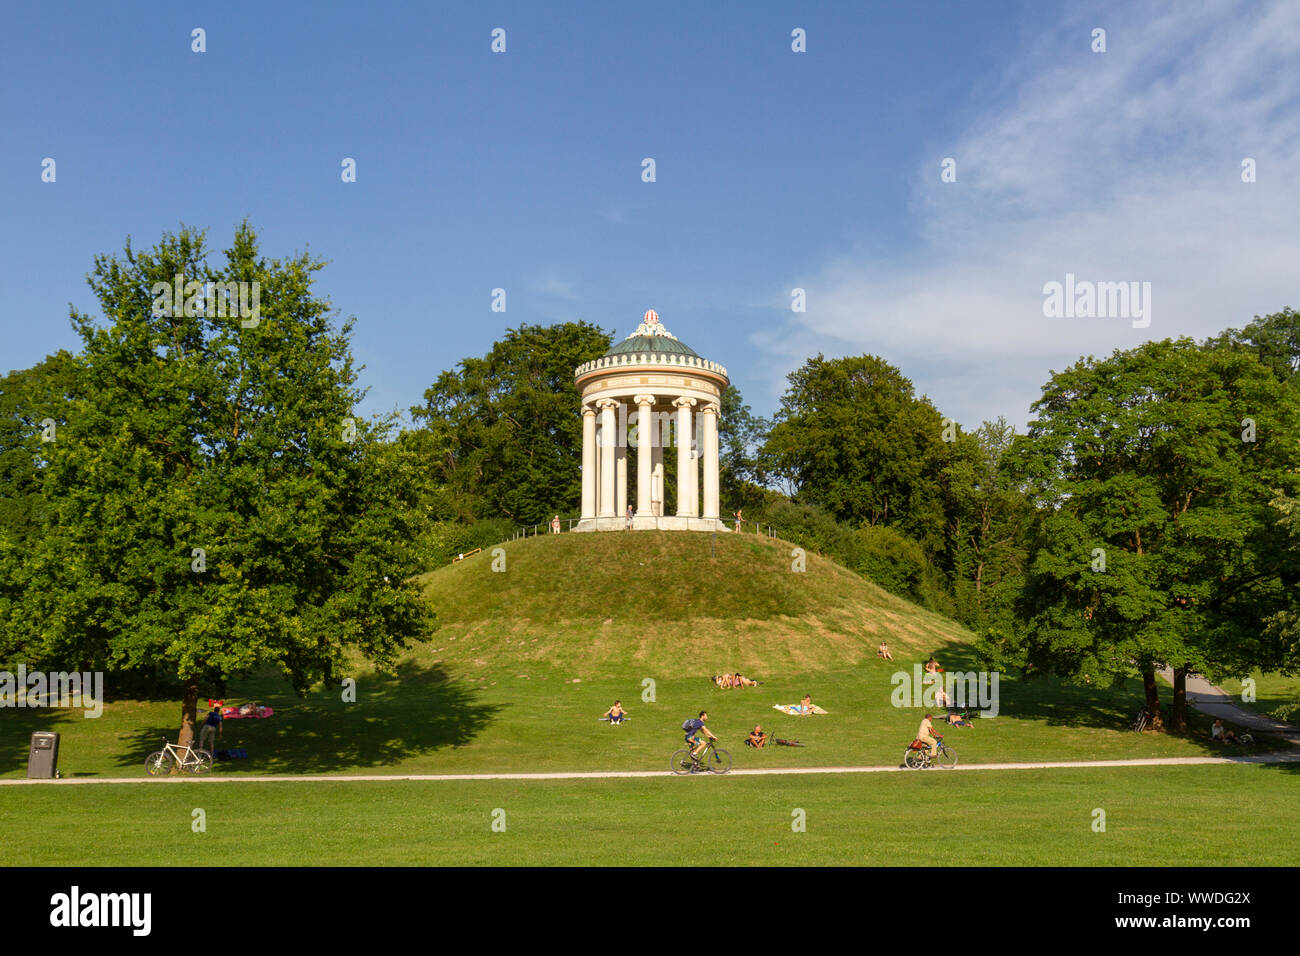
[[[191,229],[96,258],[103,321],[72,316],[39,537],[3,555],[20,594],[4,657],[179,680],[188,743],[200,693],[237,675],[273,663],[302,691],[426,631],[407,580],[416,463],[385,442],[391,421],[355,416],[351,321],[333,326],[320,268],[265,259],[247,225],[217,264]],[[177,277],[186,302],[160,300]],[[225,282],[260,290],[260,313],[230,315]]]

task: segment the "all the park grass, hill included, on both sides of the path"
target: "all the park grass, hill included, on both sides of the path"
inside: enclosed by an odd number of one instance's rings
[[[439,630],[394,674],[358,663],[355,702],[337,687],[299,698],[273,674],[233,684],[228,700],[270,704],[276,715],[228,721],[218,748],[250,760],[216,770],[662,778],[3,787],[0,832],[49,821],[39,842],[10,840],[5,862],[1296,862],[1300,765],[671,777],[681,721],[702,709],[737,769],[897,765],[924,709],[893,706],[892,676],[931,653],[950,671],[979,670],[956,623],[815,555],[793,574],[788,548],[567,535],[507,546],[504,574],[489,555],[443,568],[426,580]],[[876,658],[881,637],[896,662]],[[737,667],[763,685],[711,684]],[[0,777],[22,777],[29,735],[55,730],[65,775],[143,778],[146,756],[176,739],[177,697],[109,691],[99,719],[0,711]],[[1097,689],[1002,675],[998,692],[998,717],[948,731],[963,766],[1225,752],[1200,714],[1184,736],[1131,732],[1136,682]],[[828,715],[772,709],[805,693]],[[616,697],[632,717],[610,727],[597,718]],[[750,750],[742,739],[755,723],[805,745]],[[190,830],[195,808],[207,813],[204,834]],[[806,832],[790,830],[796,808]],[[1092,831],[1095,808],[1108,814],[1105,834]],[[491,831],[494,809],[506,812],[506,832]]]

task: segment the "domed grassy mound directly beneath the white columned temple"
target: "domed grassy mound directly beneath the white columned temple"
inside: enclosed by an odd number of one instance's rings
[[[614,676],[629,666],[664,678],[731,670],[815,672],[900,659],[971,635],[794,545],[753,535],[545,535],[424,576],[438,611],[438,659],[485,667],[510,659]]]

